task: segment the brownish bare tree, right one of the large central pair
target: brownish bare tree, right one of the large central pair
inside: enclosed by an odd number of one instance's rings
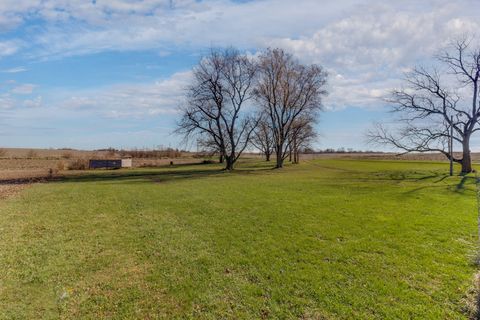
[[[302,65],[282,49],[260,55],[255,96],[272,128],[276,167],[283,167],[289,136],[302,116],[316,118],[326,95],[327,73],[318,65]]]

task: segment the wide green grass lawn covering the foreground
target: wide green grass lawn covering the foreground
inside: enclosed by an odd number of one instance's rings
[[[464,319],[475,178],[318,160],[94,172],[0,203],[1,319]]]

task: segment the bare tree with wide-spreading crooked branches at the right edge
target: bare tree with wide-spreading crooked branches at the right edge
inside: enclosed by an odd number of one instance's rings
[[[440,152],[468,173],[472,171],[470,140],[480,130],[480,47],[472,49],[461,40],[452,49],[438,56],[445,71],[416,68],[407,74],[406,88],[393,91],[389,101],[399,115],[397,130],[377,125],[368,136],[372,142],[405,152]],[[462,146],[461,158],[448,151],[450,137]]]

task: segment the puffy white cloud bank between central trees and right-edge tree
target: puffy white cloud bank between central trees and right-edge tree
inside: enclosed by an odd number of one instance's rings
[[[480,3],[471,5],[480,9]],[[380,106],[406,70],[434,63],[432,56],[453,38],[480,29],[467,8],[472,7],[444,1],[425,7],[408,1],[398,5],[370,1],[368,7],[359,6],[312,35],[271,39],[269,45],[329,69],[328,108]]]

